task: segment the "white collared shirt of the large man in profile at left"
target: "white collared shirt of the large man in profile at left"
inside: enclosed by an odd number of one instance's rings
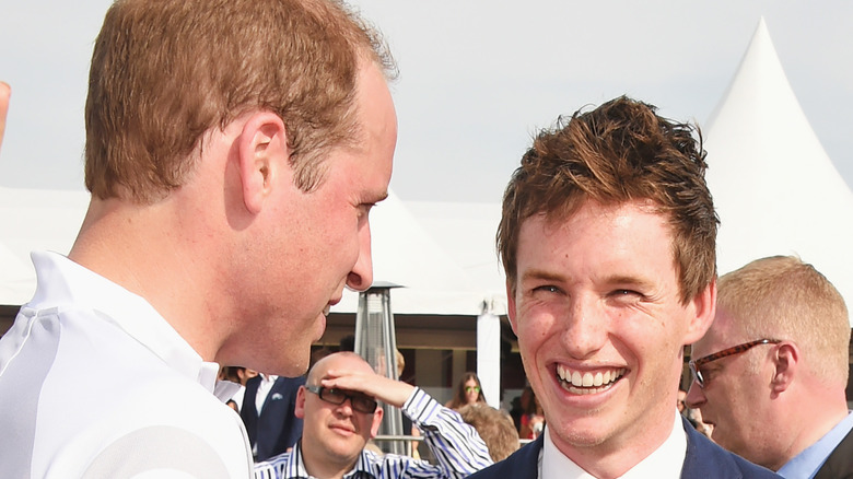
[[[38,287],[0,339],[3,477],[247,478],[219,365],[142,297],[34,253]]]

